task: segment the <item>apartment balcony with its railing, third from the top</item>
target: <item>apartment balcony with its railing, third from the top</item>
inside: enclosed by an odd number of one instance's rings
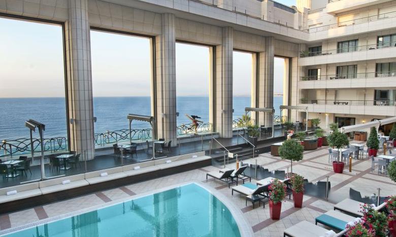
[[[334,49],[302,54],[300,55],[299,66],[393,58],[395,55],[396,42],[386,45],[364,45],[344,50]]]

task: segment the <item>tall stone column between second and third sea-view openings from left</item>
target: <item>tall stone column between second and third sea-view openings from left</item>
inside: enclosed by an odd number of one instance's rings
[[[176,26],[175,15],[161,16],[161,34],[155,37],[157,137],[176,145]]]

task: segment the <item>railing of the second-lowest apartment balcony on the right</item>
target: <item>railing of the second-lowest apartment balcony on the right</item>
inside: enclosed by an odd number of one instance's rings
[[[390,76],[396,76],[396,71],[301,76],[300,81],[342,80],[342,79],[376,78],[376,77],[390,77]]]

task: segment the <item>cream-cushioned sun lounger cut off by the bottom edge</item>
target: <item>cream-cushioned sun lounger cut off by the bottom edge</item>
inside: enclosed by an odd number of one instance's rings
[[[317,226],[308,221],[299,222],[284,230],[283,236],[289,237],[319,237],[324,236],[326,233],[332,232],[331,230]],[[332,237],[339,237],[345,234],[346,230],[334,234]]]

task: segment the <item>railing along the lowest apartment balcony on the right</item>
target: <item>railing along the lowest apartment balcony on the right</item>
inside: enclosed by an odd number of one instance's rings
[[[302,104],[320,104],[320,105],[348,105],[348,106],[394,106],[394,100],[300,100]]]

